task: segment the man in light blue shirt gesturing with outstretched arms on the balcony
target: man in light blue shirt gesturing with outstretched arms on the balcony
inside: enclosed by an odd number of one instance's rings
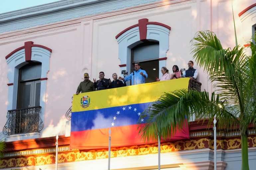
[[[140,68],[140,63],[137,62],[135,63],[134,66],[135,71],[133,71],[129,76],[122,78],[119,77],[119,80],[124,80],[125,82],[127,81],[132,81],[132,85],[139,85],[139,84],[144,84],[145,80],[148,78],[148,74],[146,73],[145,70],[142,70]]]

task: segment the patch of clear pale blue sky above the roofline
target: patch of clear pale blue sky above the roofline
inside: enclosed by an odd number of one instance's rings
[[[0,0],[0,14],[60,0]]]

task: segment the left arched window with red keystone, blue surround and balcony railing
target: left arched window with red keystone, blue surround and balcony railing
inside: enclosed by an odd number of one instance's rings
[[[9,79],[7,122],[3,134],[30,133],[38,138],[44,127],[47,72],[52,50],[43,45],[25,42],[6,58]],[[12,141],[9,136],[7,141]],[[22,138],[21,138],[22,140]]]

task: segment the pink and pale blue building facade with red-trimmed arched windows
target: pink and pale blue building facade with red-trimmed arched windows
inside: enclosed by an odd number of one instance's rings
[[[107,150],[69,149],[68,112],[83,74],[91,81],[100,71],[107,79],[124,77],[141,62],[146,83],[155,82],[163,66],[188,68],[190,41],[199,30],[215,32],[223,48],[233,48],[232,3],[238,43],[248,46],[255,0],[62,0],[0,14],[0,127],[7,142],[0,168],[54,169],[58,134],[59,169],[107,169]],[[212,91],[203,69],[194,68],[201,89]],[[253,169],[256,137],[249,133]],[[190,135],[190,141],[162,143],[162,168],[213,168],[212,130],[191,121]],[[240,167],[239,132],[219,132],[217,143],[218,168]],[[158,165],[155,144],[115,148],[112,157],[111,169]]]

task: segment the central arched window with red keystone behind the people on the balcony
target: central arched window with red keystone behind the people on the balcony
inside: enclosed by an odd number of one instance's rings
[[[146,83],[155,82],[156,77],[162,76],[159,68],[166,66],[170,30],[171,27],[165,24],[149,22],[144,18],[140,19],[138,24],[117,34],[121,70],[126,70],[130,74],[130,69],[134,67],[133,64],[139,61],[149,76]]]

